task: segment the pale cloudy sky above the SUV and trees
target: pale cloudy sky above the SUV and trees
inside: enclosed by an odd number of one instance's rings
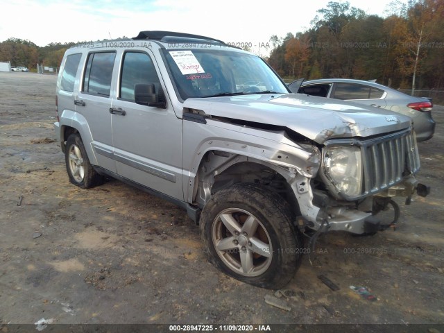
[[[343,0],[333,0],[345,2]],[[391,0],[349,0],[367,14],[386,16]],[[10,37],[38,46],[135,37],[164,30],[248,43],[261,53],[271,35],[306,31],[329,0],[0,0],[0,42]],[[401,0],[407,2],[407,0]],[[257,50],[259,49],[259,50]]]

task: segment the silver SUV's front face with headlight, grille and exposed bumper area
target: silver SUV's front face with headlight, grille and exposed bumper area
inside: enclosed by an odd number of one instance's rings
[[[429,188],[415,174],[420,162],[411,129],[365,139],[330,139],[325,142],[321,168],[311,183],[316,220],[309,228],[325,232],[343,230],[365,234],[395,228],[399,207],[395,196],[406,197],[409,205],[415,191],[427,196]],[[297,191],[297,189],[296,189]],[[382,224],[377,213],[393,206],[393,220]]]

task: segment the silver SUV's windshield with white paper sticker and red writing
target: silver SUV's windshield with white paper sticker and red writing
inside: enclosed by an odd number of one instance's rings
[[[164,50],[180,97],[287,94],[287,87],[261,58],[227,50]]]

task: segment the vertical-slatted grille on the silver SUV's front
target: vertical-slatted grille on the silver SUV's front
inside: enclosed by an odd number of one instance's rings
[[[416,137],[410,130],[361,142],[364,193],[375,194],[391,187],[420,168]]]

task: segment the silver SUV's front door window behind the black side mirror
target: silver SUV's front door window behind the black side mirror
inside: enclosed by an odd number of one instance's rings
[[[123,57],[119,97],[135,101],[134,87],[139,83],[154,83],[155,92],[160,92],[160,81],[153,61],[146,53],[127,52]]]

